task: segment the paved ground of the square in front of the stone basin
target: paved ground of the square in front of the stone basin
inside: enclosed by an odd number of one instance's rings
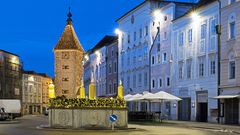
[[[235,133],[222,132],[216,129],[184,126],[185,122],[129,124],[129,128],[136,129],[124,131],[80,131],[37,128],[42,124],[48,124],[48,119],[45,116],[24,116],[18,121],[19,123],[16,124],[0,123],[0,135],[235,135]]]

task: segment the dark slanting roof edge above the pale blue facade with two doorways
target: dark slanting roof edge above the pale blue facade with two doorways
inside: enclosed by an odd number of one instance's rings
[[[206,5],[208,5],[208,4],[211,4],[211,3],[215,2],[215,1],[217,1],[217,0],[200,0],[197,4],[194,4],[194,6],[191,8],[191,10],[189,10],[188,12],[186,12],[185,14],[183,14],[182,16],[177,17],[177,18],[174,19],[173,21],[176,21],[176,20],[178,20],[178,19],[180,19],[180,18],[182,18],[182,17],[190,14],[192,11],[194,11],[194,10],[196,10],[196,9],[198,9],[198,8],[201,8],[201,7],[203,7],[203,6],[206,6]]]

